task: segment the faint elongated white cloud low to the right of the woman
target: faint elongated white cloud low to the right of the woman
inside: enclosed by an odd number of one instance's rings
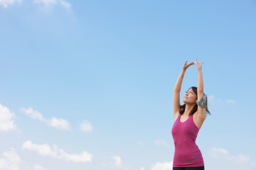
[[[243,154],[238,154],[236,156],[229,154],[229,152],[223,148],[216,148],[213,147],[210,151],[209,154],[212,157],[215,158],[224,158],[226,160],[229,160],[231,162],[247,162],[250,157],[247,155],[243,155]]]

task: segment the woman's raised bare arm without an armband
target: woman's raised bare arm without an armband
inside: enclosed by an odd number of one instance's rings
[[[175,87],[173,90],[173,114],[174,114],[174,117],[175,117],[175,114],[179,113],[180,90],[181,90],[181,84],[182,84],[182,80],[183,80],[185,71],[190,65],[193,65],[193,64],[194,64],[194,62],[190,62],[189,64],[187,64],[187,61],[185,62],[185,64],[182,67],[181,73],[175,83]]]

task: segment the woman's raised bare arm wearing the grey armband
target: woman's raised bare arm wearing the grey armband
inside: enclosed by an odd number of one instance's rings
[[[195,59],[195,65],[197,67],[198,81],[197,81],[197,101],[199,101],[203,97],[203,80],[202,80],[202,63],[197,62],[197,58]],[[198,105],[197,108],[198,117],[201,119],[206,119],[206,108],[202,108]]]

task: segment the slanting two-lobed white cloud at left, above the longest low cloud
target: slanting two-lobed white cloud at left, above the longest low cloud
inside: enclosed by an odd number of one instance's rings
[[[52,119],[45,119],[42,114],[40,114],[38,111],[33,110],[31,107],[26,109],[26,108],[20,108],[20,110],[25,113],[27,116],[29,116],[32,119],[38,119],[42,122],[45,122],[49,126],[55,127],[57,129],[61,130],[69,130],[70,129],[70,124],[68,121],[65,119],[57,119],[53,117]]]

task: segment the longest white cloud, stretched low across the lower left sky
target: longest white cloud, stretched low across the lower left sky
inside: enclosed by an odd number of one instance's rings
[[[93,157],[92,154],[86,151],[83,151],[81,154],[69,154],[63,149],[59,149],[57,145],[54,145],[52,149],[48,144],[33,144],[30,140],[23,143],[22,149],[35,151],[40,155],[51,156],[58,159],[64,159],[66,161],[74,162],[91,162],[91,159]]]

